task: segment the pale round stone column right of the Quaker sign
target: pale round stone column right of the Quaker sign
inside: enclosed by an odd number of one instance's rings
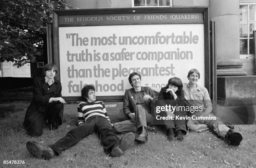
[[[217,76],[247,75],[240,61],[239,0],[210,0],[210,20],[215,21]]]

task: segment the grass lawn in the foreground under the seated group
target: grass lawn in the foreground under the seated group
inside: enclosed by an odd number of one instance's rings
[[[256,167],[256,125],[235,125],[243,135],[238,147],[227,145],[210,132],[189,132],[184,141],[169,142],[160,131],[149,132],[148,143],[134,143],[124,155],[112,158],[103,152],[97,135],[92,134],[58,157],[42,160],[28,153],[27,141],[52,144],[76,127],[77,119],[64,115],[59,129],[50,131],[44,128],[41,137],[31,137],[22,126],[27,106],[28,103],[19,105],[19,108],[0,106],[0,112],[5,112],[0,118],[0,165],[3,167]],[[4,165],[3,160],[24,160],[25,163]]]

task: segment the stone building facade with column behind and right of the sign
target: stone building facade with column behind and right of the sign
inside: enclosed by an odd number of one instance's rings
[[[207,7],[216,98],[255,98],[256,0],[67,0],[74,9]],[[196,67],[195,67],[196,68]],[[217,94],[218,92],[218,94]],[[214,95],[214,93],[213,93]]]

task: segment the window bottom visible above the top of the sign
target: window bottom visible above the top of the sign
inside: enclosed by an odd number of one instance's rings
[[[133,7],[173,6],[172,0],[133,0]]]

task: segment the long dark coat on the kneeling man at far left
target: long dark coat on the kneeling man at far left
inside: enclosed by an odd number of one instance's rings
[[[24,127],[29,127],[41,114],[45,113],[50,98],[61,97],[61,83],[54,78],[54,83],[48,90],[44,77],[37,77],[33,81],[33,99],[26,111]],[[60,116],[60,120],[62,115]]]

